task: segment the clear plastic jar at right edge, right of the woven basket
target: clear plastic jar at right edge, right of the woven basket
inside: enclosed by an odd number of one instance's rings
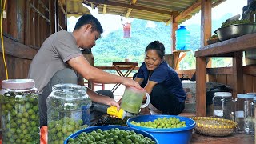
[[[251,102],[254,101],[253,94],[238,94],[235,98],[235,122],[238,123],[236,131],[242,134],[250,134],[252,126],[250,124],[251,114]]]

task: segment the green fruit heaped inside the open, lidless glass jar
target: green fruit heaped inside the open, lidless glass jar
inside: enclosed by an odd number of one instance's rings
[[[48,143],[62,144],[70,134],[88,127],[83,123],[82,119],[74,120],[68,117],[48,122]]]

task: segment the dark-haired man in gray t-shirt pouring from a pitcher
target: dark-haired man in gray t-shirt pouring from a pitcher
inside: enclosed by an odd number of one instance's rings
[[[40,126],[47,125],[46,98],[50,95],[52,86],[58,83],[78,84],[78,74],[94,82],[121,83],[140,88],[138,82],[130,78],[119,77],[90,66],[83,57],[79,47],[90,50],[102,33],[102,26],[97,18],[83,15],[78,19],[73,33],[62,30],[50,35],[43,42],[30,65],[28,74],[28,78],[34,79],[40,94]],[[117,106],[118,110],[120,108],[109,91],[96,93],[87,89],[87,94],[93,102]]]

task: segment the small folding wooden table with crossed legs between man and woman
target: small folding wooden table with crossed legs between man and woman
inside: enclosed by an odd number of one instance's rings
[[[134,70],[134,68],[138,66],[138,62],[113,62],[113,66],[114,70],[118,72],[118,75],[120,75],[121,77],[128,77],[129,74]],[[123,70],[123,68],[127,68],[125,74],[123,74],[121,71]],[[120,83],[115,84],[111,91],[114,92],[114,90],[117,90],[120,85]]]

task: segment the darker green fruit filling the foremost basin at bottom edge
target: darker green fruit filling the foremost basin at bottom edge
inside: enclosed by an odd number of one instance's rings
[[[148,143],[154,144],[152,139],[144,137],[142,134],[137,134],[134,130],[120,130],[112,128],[110,130],[101,129],[93,130],[90,133],[82,132],[77,138],[69,138],[69,144],[73,143],[99,143],[99,144],[122,144],[122,143]]]

